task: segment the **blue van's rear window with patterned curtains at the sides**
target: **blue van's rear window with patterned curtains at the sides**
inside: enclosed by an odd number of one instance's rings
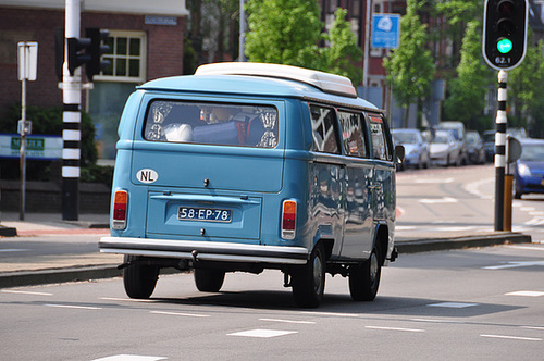
[[[275,148],[277,110],[270,105],[156,100],[144,138],[151,141]]]

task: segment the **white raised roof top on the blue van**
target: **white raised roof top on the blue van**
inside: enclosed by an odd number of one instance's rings
[[[324,92],[357,98],[357,90],[345,76],[309,69],[269,63],[224,62],[200,65],[195,75],[256,75],[292,79],[312,85]]]

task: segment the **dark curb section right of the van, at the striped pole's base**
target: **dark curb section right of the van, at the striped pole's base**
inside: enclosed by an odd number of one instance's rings
[[[448,249],[490,247],[509,244],[530,244],[531,236],[521,233],[502,233],[497,235],[470,236],[456,238],[407,239],[395,242],[398,253],[419,253]]]

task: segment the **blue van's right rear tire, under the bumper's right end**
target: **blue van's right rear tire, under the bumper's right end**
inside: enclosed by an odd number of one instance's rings
[[[298,266],[292,274],[293,296],[299,307],[314,308],[323,300],[325,289],[325,252],[318,244],[307,264]]]

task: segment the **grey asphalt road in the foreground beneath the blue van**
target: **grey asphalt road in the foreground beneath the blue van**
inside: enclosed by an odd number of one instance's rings
[[[543,271],[544,245],[405,254],[374,302],[336,276],[319,309],[296,308],[274,271],[227,274],[219,294],[162,276],[147,301],[120,278],[1,289],[0,359],[537,360]]]

